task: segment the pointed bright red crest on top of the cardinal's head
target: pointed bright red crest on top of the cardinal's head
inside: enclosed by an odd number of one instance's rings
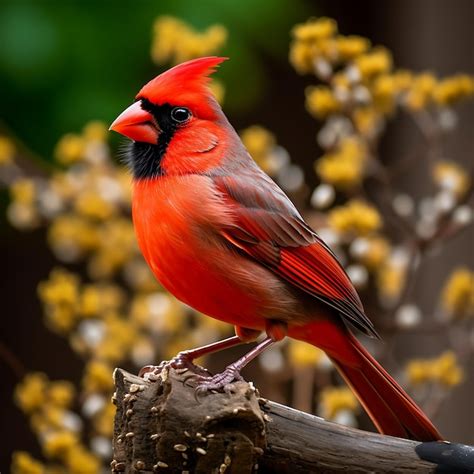
[[[210,56],[178,64],[143,86],[136,98],[146,98],[156,105],[199,104],[209,96],[209,76],[226,59]]]

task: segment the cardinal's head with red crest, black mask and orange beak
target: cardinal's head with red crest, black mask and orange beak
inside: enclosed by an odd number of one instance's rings
[[[205,171],[210,153],[223,144],[226,119],[209,87],[209,76],[227,58],[179,64],[146,84],[110,126],[132,140],[135,179]],[[206,159],[198,159],[206,155]]]

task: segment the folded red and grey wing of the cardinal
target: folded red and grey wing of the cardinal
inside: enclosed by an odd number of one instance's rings
[[[336,309],[364,333],[378,337],[335,255],[270,178],[258,175],[258,185],[253,184],[255,174],[218,176],[214,182],[236,216],[235,226],[222,231],[229,242]]]

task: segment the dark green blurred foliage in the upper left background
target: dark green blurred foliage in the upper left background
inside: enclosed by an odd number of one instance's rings
[[[90,117],[110,122],[133,100],[130,91],[159,72],[149,61],[150,19],[163,14],[199,31],[226,25],[228,41],[221,53],[232,61],[220,77],[231,91],[227,110],[239,112],[264,94],[268,78],[260,56],[284,56],[291,25],[307,11],[303,0],[3,0],[4,126],[48,159],[58,136]],[[152,54],[156,58],[156,48]]]

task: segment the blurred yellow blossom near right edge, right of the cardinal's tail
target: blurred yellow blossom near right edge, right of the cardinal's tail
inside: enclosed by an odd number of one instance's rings
[[[413,385],[432,382],[445,387],[459,385],[464,377],[452,351],[445,351],[432,359],[414,359],[408,363],[406,374]]]

